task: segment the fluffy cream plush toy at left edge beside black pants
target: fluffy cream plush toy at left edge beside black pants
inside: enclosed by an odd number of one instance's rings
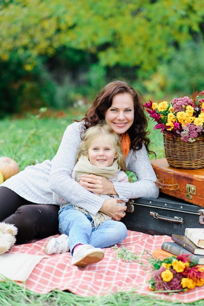
[[[0,254],[10,250],[16,242],[18,229],[14,224],[0,222]]]

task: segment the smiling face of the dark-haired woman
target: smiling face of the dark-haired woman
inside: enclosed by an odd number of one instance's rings
[[[134,121],[134,102],[131,94],[118,93],[105,112],[105,121],[117,134],[125,133]]]

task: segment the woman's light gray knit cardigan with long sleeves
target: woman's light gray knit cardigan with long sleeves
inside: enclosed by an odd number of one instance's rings
[[[69,125],[51,161],[45,160],[43,163],[28,166],[0,186],[5,186],[28,201],[38,204],[55,204],[52,197],[54,192],[95,215],[104,199],[87,191],[70,176],[82,141],[81,131],[84,131],[83,122]],[[159,189],[154,183],[157,177],[144,145],[136,154],[130,150],[126,165],[127,170],[134,172],[138,180],[135,183],[113,182],[119,198],[123,201],[137,197],[157,198]]]

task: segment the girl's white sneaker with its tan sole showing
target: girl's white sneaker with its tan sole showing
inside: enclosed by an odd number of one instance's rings
[[[85,268],[90,263],[100,262],[104,257],[104,251],[90,244],[83,244],[73,252],[71,264],[78,268]]]

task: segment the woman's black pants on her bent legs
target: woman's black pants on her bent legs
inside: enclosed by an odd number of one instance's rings
[[[58,205],[35,204],[0,187],[0,222],[18,228],[16,243],[58,234]]]

